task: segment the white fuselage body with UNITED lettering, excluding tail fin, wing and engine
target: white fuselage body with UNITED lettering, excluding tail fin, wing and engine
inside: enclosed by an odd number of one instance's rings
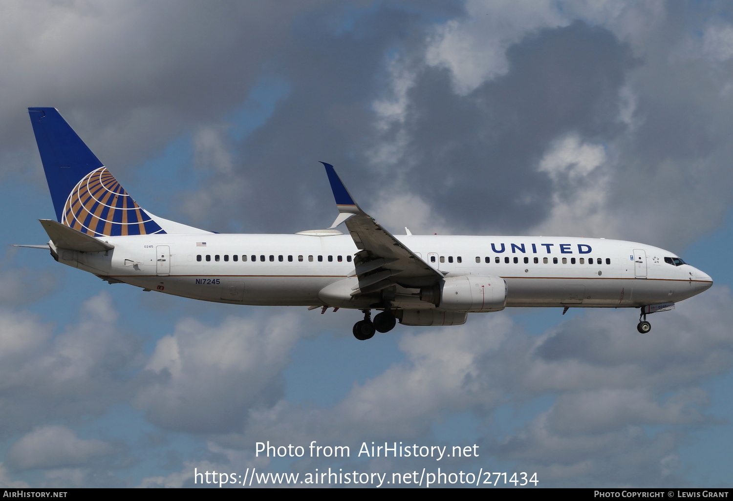
[[[449,276],[504,278],[507,306],[631,308],[674,303],[712,285],[710,276],[689,264],[666,262],[677,257],[674,253],[636,242],[437,235],[397,239]],[[59,261],[152,291],[243,305],[334,305],[319,292],[354,275],[358,251],[348,234],[152,234],[100,240],[114,249],[59,249]],[[435,308],[417,298],[395,306]]]

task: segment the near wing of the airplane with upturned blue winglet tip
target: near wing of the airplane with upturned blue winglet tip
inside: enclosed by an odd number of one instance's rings
[[[441,280],[443,274],[410,251],[394,235],[369,216],[351,197],[334,166],[321,162],[334,192],[339,216],[331,228],[345,222],[356,247],[354,264],[358,286],[352,295],[368,294],[394,284],[403,287],[429,286]]]

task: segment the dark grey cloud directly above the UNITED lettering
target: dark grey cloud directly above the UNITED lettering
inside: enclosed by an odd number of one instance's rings
[[[619,133],[618,94],[636,64],[610,31],[575,22],[531,34],[507,52],[507,75],[457,95],[432,67],[410,90],[403,157],[437,212],[476,231],[522,231],[550,207],[537,164],[550,141],[572,131],[596,140]]]

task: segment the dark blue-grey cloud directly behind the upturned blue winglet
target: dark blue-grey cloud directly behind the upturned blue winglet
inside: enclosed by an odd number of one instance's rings
[[[373,4],[345,29],[348,11],[301,16],[295,43],[270,66],[290,92],[242,145],[237,176],[246,179],[247,196],[226,197],[215,209],[243,215],[249,231],[331,223],[333,197],[319,160],[333,163],[352,186],[373,182],[361,156],[375,120],[372,101],[386,85],[388,53],[424,36],[426,21],[399,3]]]

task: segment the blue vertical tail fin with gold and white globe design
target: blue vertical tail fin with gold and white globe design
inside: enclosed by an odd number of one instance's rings
[[[92,237],[166,233],[56,108],[28,111],[59,223]]]

